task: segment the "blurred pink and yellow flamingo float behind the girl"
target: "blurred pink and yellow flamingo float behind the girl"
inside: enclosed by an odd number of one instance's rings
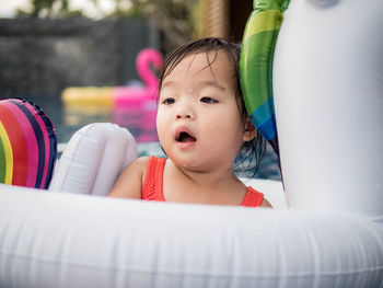
[[[66,106],[85,108],[86,106],[138,108],[148,105],[148,102],[156,101],[159,90],[159,80],[151,66],[160,69],[162,62],[162,56],[158,50],[142,49],[137,56],[136,68],[144,87],[67,88],[62,91],[61,100]]]

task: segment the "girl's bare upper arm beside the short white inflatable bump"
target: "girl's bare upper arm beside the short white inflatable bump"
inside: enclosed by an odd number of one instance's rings
[[[121,174],[107,195],[109,197],[141,199],[141,188],[149,158],[142,157],[132,161]]]

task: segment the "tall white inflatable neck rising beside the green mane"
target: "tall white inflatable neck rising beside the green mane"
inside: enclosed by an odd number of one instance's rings
[[[285,13],[274,91],[291,208],[383,220],[382,11],[381,0],[297,0]]]

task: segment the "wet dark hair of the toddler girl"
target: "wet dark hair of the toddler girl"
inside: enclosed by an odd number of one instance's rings
[[[240,55],[241,55],[240,44],[231,43],[223,38],[210,37],[210,38],[197,39],[179,46],[173,53],[171,53],[165,59],[165,62],[162,67],[162,71],[160,74],[160,92],[161,92],[163,80],[166,78],[166,76],[169,76],[173,71],[173,69],[183,59],[185,59],[190,55],[205,53],[208,61],[208,66],[210,67],[211,64],[217,59],[217,55],[219,51],[223,51],[233,65],[232,72],[233,72],[235,99],[236,99],[236,104],[245,128],[245,125],[247,125],[246,119],[248,114],[245,107],[245,103],[244,103],[243,94],[241,90],[241,83],[240,83]],[[210,53],[213,53],[212,59],[209,57]],[[235,162],[236,162],[236,165],[240,165],[240,164],[246,165],[245,171],[247,173],[251,172],[251,174],[249,175],[246,174],[246,176],[255,176],[255,174],[260,168],[260,162],[265,154],[265,149],[266,149],[266,141],[259,134],[257,134],[257,136],[252,141],[244,142]]]

